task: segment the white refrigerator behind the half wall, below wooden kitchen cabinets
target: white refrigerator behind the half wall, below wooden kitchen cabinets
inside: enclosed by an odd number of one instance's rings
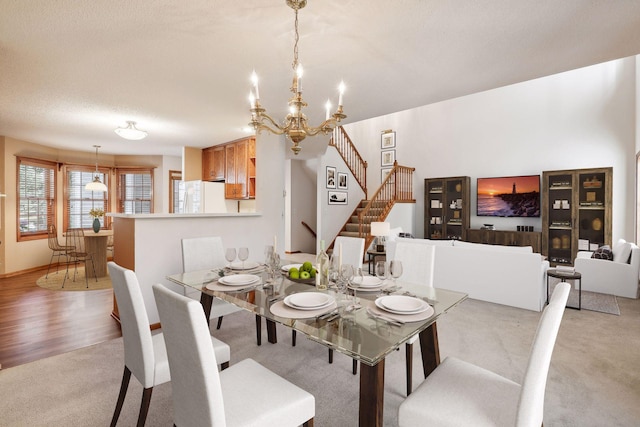
[[[235,200],[224,198],[224,182],[183,181],[180,184],[181,213],[233,213]]]

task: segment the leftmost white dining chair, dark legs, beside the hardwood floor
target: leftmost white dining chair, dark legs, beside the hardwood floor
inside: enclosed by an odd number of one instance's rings
[[[120,417],[132,373],[144,388],[137,424],[143,426],[149,411],[153,387],[170,380],[164,335],[151,334],[149,318],[136,274],[114,262],[107,263],[107,268],[118,303],[124,342],[124,373],[111,426],[115,426]],[[214,337],[209,338],[216,360],[221,364],[222,369],[225,369],[229,366],[231,359],[229,346]]]

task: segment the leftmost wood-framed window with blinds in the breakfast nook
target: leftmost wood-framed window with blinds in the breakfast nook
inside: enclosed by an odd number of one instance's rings
[[[43,239],[56,219],[54,162],[18,157],[18,241]]]

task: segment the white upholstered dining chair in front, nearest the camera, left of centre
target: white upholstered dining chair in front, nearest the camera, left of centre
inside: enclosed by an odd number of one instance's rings
[[[315,398],[252,359],[218,372],[202,305],[153,286],[171,370],[174,426],[313,426]]]

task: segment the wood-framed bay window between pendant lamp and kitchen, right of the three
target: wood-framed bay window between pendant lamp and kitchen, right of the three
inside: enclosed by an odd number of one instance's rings
[[[153,212],[153,170],[118,171],[118,212],[144,214]]]

